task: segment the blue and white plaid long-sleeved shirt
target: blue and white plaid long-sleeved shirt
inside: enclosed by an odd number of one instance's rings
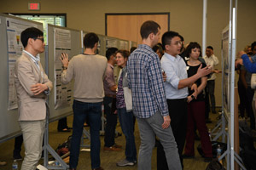
[[[127,72],[133,113],[139,118],[153,116],[156,111],[168,116],[160,59],[152,48],[139,45],[128,59]]]

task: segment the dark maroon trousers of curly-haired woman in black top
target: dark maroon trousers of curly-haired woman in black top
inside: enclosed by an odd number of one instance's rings
[[[212,157],[212,143],[205,121],[205,101],[190,102],[188,105],[188,127],[184,154],[195,156],[195,125],[201,137],[201,149],[206,157]]]

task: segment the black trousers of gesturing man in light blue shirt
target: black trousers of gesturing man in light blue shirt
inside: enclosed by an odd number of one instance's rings
[[[183,148],[186,139],[188,103],[185,99],[167,99],[169,115],[171,117],[172,133],[177,143],[178,155],[183,167]],[[193,128],[194,129],[194,128]],[[162,144],[157,146],[157,169],[167,170],[166,154]]]

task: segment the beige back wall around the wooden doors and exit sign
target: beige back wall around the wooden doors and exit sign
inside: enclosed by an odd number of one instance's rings
[[[41,3],[34,13],[66,13],[67,27],[105,34],[106,13],[170,12],[170,28],[190,41],[201,43],[203,0],[0,0],[0,13],[32,13],[28,3]],[[238,3],[237,50],[256,40],[256,1]],[[221,31],[229,23],[230,0],[208,0],[207,45],[212,45],[221,62]],[[221,69],[221,64],[217,67]],[[217,105],[221,105],[221,75],[216,81]]]

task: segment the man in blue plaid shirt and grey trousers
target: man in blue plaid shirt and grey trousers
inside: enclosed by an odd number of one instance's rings
[[[151,155],[155,135],[166,151],[169,169],[182,169],[177,144],[170,127],[160,59],[152,47],[160,38],[160,26],[148,20],[141,26],[143,44],[131,54],[127,62],[129,87],[132,93],[132,109],[137,116],[141,145],[138,169],[151,169]]]

